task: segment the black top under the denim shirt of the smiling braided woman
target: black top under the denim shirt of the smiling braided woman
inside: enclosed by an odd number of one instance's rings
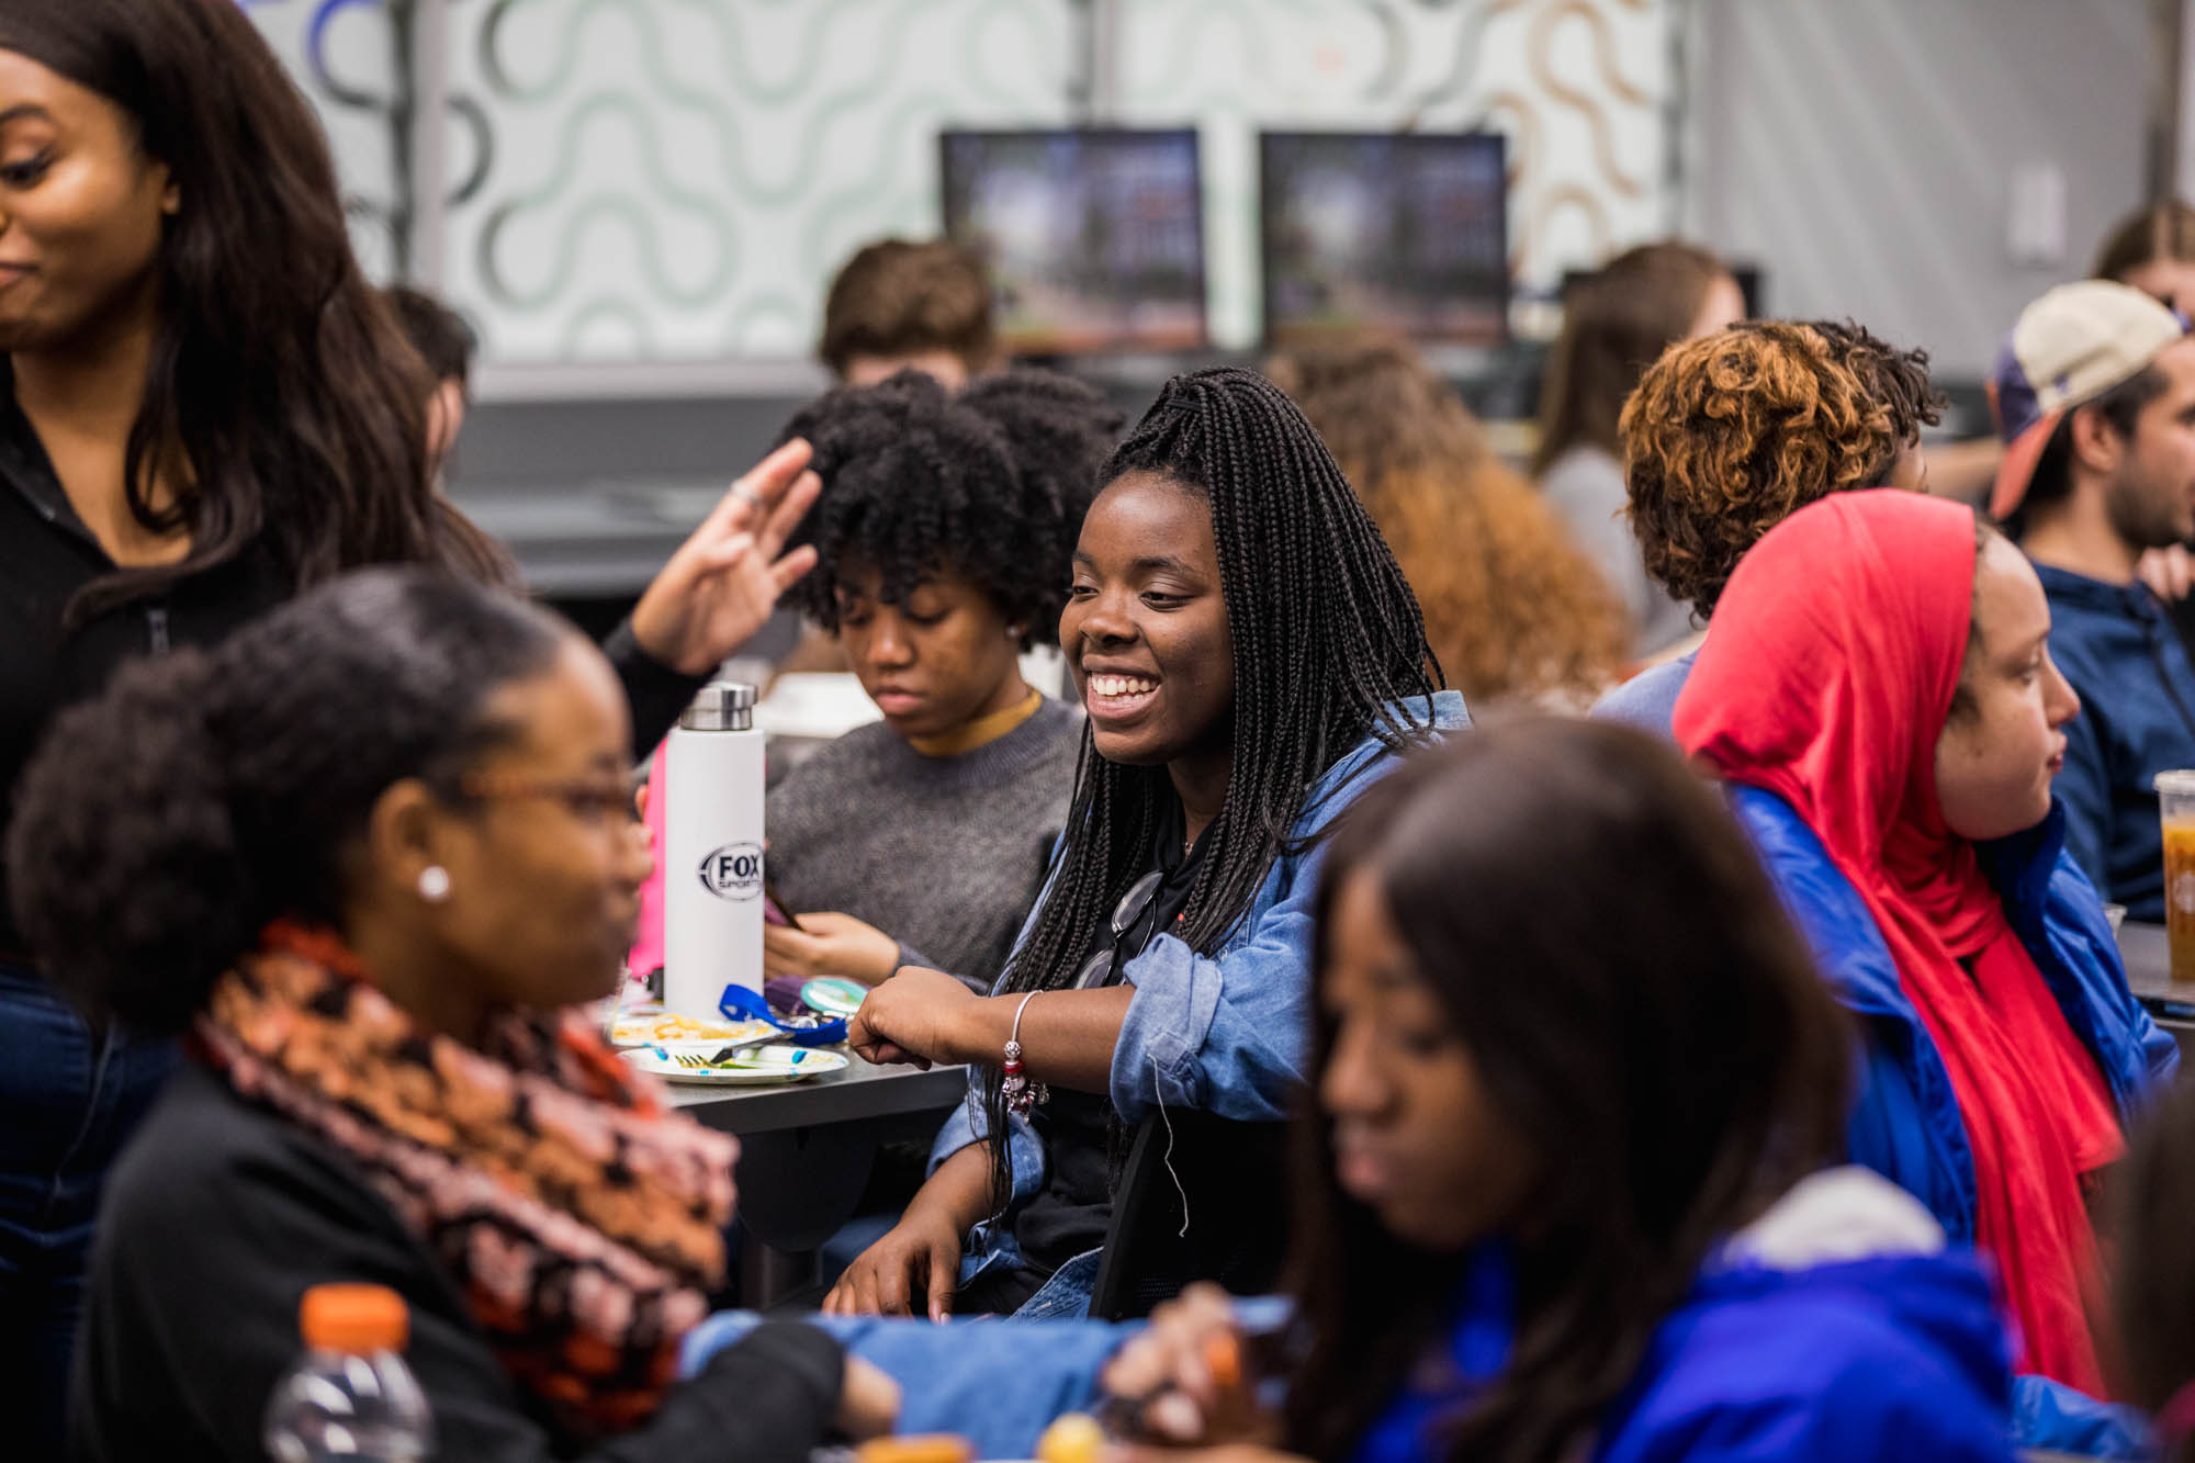
[[[1126,967],[1159,929],[1174,929],[1196,885],[1203,841],[1183,852],[1181,804],[1170,802],[1159,819],[1146,870],[1163,874],[1144,912],[1113,938],[1111,923],[1091,949],[1113,947],[1113,964],[1102,984],[1119,984]],[[1014,1219],[1014,1241],[1032,1267],[1051,1274],[1078,1254],[1104,1243],[1113,1224],[1113,1101],[1100,1092],[1051,1090],[1051,1101],[1032,1109],[1045,1140],[1045,1186]]]

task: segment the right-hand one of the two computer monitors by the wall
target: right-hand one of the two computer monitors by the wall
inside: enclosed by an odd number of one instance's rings
[[[1267,345],[1508,340],[1499,132],[1260,132]]]

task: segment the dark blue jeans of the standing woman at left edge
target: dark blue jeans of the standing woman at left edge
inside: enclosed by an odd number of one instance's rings
[[[61,1456],[99,1193],[173,1068],[173,1041],[92,1032],[0,958],[0,1417],[22,1456]]]

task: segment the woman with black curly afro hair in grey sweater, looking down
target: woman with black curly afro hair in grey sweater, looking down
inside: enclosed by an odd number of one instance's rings
[[[770,975],[999,973],[1082,745],[1080,716],[1023,681],[1021,652],[1058,644],[1119,428],[1095,389],[1047,371],[961,395],[902,371],[786,426],[823,479],[799,529],[817,569],[792,604],[838,637],[882,721],[770,793],[770,876],[799,920],[768,929]]]

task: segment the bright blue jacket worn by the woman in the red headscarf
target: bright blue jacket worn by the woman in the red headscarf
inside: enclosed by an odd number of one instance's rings
[[[1815,960],[1861,1024],[1859,1101],[1846,1129],[1850,1160],[1918,1197],[1954,1241],[1973,1243],[1973,1149],[1951,1074],[1899,984],[1875,916],[1791,804],[1752,786],[1734,786],[1730,795]],[[1982,868],[2125,1123],[2151,1087],[2177,1072],[2180,1050],[2127,991],[2103,903],[2063,844],[2065,811],[2052,806],[2035,828],[1982,844]],[[2028,1426],[2019,1441],[2068,1448],[2085,1426],[2116,1426],[2083,1404],[2079,1393],[2022,1377]],[[2068,1450],[2098,1448],[2087,1441]]]

